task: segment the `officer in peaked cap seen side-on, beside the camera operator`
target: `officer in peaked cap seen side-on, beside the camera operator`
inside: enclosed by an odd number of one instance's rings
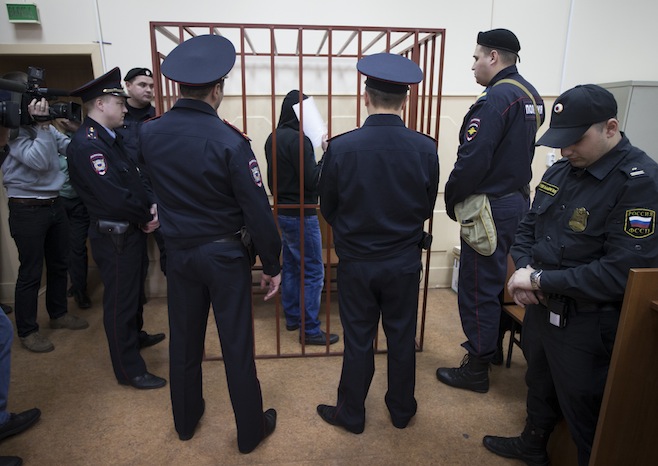
[[[159,222],[152,194],[114,131],[126,113],[119,68],[71,95],[82,99],[87,116],[67,149],[69,174],[89,211],[89,240],[105,286],[103,323],[114,374],[123,385],[160,388],[166,382],[146,370],[137,330],[145,233]]]

